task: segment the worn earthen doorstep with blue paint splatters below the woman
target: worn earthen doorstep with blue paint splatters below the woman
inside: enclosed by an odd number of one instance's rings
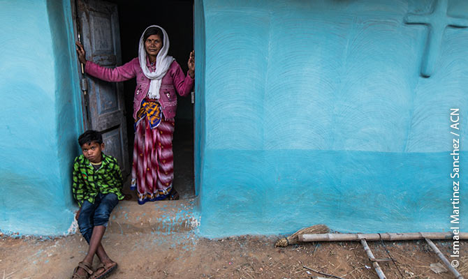
[[[171,234],[198,227],[195,199],[138,204],[122,201],[109,218],[106,234]]]

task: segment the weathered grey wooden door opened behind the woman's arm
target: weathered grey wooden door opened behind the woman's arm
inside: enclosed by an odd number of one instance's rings
[[[87,59],[104,67],[122,65],[117,4],[100,0],[76,1],[79,32]],[[105,153],[117,158],[125,177],[130,172],[130,163],[123,84],[104,82],[89,75],[86,79],[86,126],[102,133]]]

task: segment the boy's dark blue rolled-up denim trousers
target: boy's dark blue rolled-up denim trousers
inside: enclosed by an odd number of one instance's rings
[[[78,216],[78,227],[80,227],[80,232],[88,244],[93,234],[93,227],[107,227],[110,213],[118,202],[119,199],[114,193],[98,193],[94,199],[94,204],[87,200],[83,202],[80,216]]]

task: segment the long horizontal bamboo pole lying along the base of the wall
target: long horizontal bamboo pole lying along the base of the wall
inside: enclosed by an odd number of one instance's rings
[[[468,239],[468,232],[460,232],[460,239]],[[386,232],[382,234],[299,234],[300,242],[312,241],[401,241],[401,240],[416,240],[416,239],[452,239],[451,232],[404,232],[393,233]]]

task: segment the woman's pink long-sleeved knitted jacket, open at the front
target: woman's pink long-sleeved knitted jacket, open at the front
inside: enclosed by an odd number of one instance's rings
[[[149,61],[147,61],[149,68]],[[136,77],[136,89],[133,97],[133,119],[136,119],[136,114],[140,110],[141,101],[146,97],[149,89],[149,78],[145,76],[140,68],[138,58],[132,59],[130,62],[122,66],[110,69],[98,64],[87,61],[85,72],[98,79],[107,82],[123,82]],[[159,103],[163,109],[163,114],[166,119],[173,118],[177,110],[177,95],[186,96],[193,88],[193,79],[190,75],[184,76],[179,63],[174,61],[170,64],[169,70],[163,77],[161,89],[159,90]]]

